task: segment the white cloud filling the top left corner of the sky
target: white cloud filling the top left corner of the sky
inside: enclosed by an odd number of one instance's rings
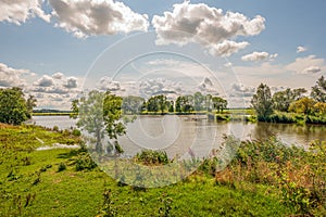
[[[0,1],[0,22],[7,21],[20,25],[28,18],[38,16],[50,22],[50,14],[41,9],[43,0],[2,0]]]

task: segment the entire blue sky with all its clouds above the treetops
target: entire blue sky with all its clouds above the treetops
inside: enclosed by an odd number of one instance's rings
[[[323,0],[0,0],[0,87],[67,110],[90,89],[248,106],[326,72]]]

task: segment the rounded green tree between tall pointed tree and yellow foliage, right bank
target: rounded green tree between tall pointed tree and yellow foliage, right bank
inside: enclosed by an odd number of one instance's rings
[[[299,88],[291,90],[290,88],[274,93],[273,95],[273,108],[280,112],[288,112],[289,106],[292,102],[302,98],[302,94],[305,93],[304,88]]]

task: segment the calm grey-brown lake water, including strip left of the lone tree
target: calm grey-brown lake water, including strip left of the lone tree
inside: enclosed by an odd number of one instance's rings
[[[120,138],[126,155],[141,149],[165,150],[170,155],[187,157],[206,156],[220,149],[224,136],[234,135],[241,140],[263,140],[276,136],[287,144],[306,146],[312,140],[326,140],[326,126],[293,124],[215,123],[196,116],[138,116],[127,125],[127,135]],[[76,120],[67,116],[35,116],[36,125],[60,129],[75,127]]]

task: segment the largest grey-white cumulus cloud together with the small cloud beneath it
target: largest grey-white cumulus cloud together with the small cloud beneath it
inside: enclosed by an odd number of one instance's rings
[[[230,39],[259,35],[265,29],[264,23],[265,18],[260,15],[250,20],[240,13],[223,13],[221,9],[189,1],[174,4],[173,12],[166,11],[163,16],[154,15],[152,18],[158,44],[197,42],[209,48],[213,46],[210,53],[217,55],[229,55],[247,47],[248,42]]]

